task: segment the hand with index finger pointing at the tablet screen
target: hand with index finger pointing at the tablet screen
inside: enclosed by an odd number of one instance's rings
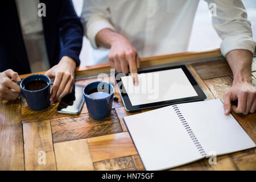
[[[139,84],[137,69],[141,59],[135,47],[131,45],[129,40],[116,32],[105,28],[96,35],[97,44],[110,48],[109,64],[111,68],[119,73],[131,73],[134,85]]]

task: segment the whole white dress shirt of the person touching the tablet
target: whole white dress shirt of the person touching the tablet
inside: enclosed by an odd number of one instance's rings
[[[241,0],[205,0],[216,14],[213,28],[222,39],[223,56],[233,49],[255,50],[251,24]],[[97,56],[97,33],[110,28],[125,36],[139,56],[185,52],[199,0],[85,0],[82,19],[86,36],[93,46],[94,64],[108,62]]]

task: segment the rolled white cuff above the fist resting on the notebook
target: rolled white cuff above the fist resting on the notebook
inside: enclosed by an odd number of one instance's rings
[[[220,49],[221,54],[224,57],[226,57],[226,54],[229,51],[232,51],[234,49],[246,49],[254,54],[255,45],[256,42],[253,40],[253,38],[245,35],[236,35],[227,37],[222,40]]]

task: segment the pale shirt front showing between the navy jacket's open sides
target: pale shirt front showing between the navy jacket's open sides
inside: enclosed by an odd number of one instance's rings
[[[32,73],[50,68],[42,18],[38,16],[39,0],[16,0],[20,27]]]

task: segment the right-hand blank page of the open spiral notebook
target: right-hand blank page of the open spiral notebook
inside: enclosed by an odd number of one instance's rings
[[[177,107],[207,155],[210,151],[222,155],[255,147],[233,115],[224,115],[219,99],[177,104]]]

